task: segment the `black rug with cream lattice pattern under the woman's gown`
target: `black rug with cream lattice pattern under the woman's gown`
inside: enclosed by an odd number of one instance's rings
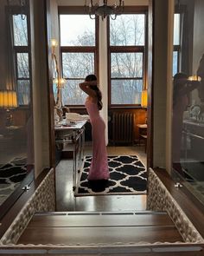
[[[87,181],[87,174],[92,161],[91,156],[86,156],[80,170],[79,180],[75,189],[75,196],[96,194],[146,194],[147,172],[143,163],[136,155],[108,156],[110,180],[100,191],[92,187]]]

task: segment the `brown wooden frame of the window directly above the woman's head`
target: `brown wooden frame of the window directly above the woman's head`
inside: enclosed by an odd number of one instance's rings
[[[58,7],[58,16],[59,16],[59,25],[61,15],[87,15],[86,10],[82,6],[59,6]],[[60,28],[61,31],[61,28]],[[61,39],[61,38],[60,38]],[[60,63],[61,63],[61,75],[63,79],[74,81],[81,80],[85,77],[74,77],[66,78],[63,75],[63,63],[62,63],[62,54],[63,53],[93,53],[94,55],[94,74],[99,77],[99,17],[95,18],[95,46],[61,46],[60,47]],[[84,104],[68,104],[66,105],[69,108],[85,108]]]

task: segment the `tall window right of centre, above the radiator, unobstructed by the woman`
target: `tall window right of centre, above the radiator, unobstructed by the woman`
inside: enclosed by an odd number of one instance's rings
[[[124,14],[110,19],[110,104],[139,105],[143,90],[146,15]]]

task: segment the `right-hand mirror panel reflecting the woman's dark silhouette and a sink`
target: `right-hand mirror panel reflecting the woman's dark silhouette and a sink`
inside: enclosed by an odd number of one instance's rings
[[[172,167],[204,203],[203,11],[203,1],[175,1]]]

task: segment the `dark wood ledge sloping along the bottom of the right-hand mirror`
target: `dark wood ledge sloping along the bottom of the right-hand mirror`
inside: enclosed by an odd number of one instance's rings
[[[201,201],[185,187],[185,184],[182,187],[175,187],[175,182],[165,169],[154,168],[154,171],[183,212],[186,213],[194,227],[204,237],[204,206]]]

